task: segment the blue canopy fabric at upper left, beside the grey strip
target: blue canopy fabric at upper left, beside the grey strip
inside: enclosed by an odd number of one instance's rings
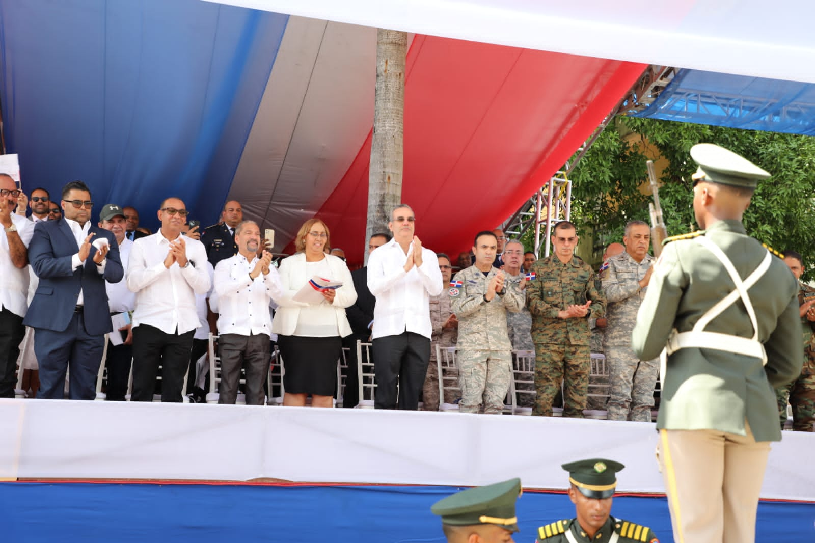
[[[3,135],[22,187],[56,200],[81,179],[96,212],[133,205],[153,227],[166,196],[217,217],[287,21],[199,0],[0,0]]]

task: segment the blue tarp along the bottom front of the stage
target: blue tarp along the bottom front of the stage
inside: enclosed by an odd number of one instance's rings
[[[192,452],[191,452],[192,454]],[[236,459],[236,461],[240,461]],[[329,458],[326,461],[336,461]],[[459,488],[0,483],[3,541],[443,542],[430,505]],[[524,492],[515,541],[575,516],[562,492]],[[612,514],[672,541],[664,497],[617,496]],[[813,541],[815,504],[761,502],[756,541]]]

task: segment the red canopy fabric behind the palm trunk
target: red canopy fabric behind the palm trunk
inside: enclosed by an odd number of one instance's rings
[[[407,54],[402,201],[416,235],[457,254],[559,170],[645,64],[416,36]],[[371,134],[318,216],[363,260]],[[292,247],[289,246],[289,249]]]

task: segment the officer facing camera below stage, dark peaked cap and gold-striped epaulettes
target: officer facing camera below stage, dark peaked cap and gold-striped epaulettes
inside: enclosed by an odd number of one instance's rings
[[[575,504],[577,517],[541,526],[537,543],[659,543],[650,528],[610,514],[616,473],[624,467],[604,458],[563,464],[562,468],[569,472],[569,499]]]

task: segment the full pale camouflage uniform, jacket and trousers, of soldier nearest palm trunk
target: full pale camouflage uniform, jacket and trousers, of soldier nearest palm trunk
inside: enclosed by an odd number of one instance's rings
[[[512,345],[507,333],[507,311],[521,311],[524,294],[512,281],[504,281],[504,294],[484,300],[487,285],[498,270],[485,277],[475,266],[456,273],[460,287],[449,291],[452,311],[459,320],[456,364],[461,386],[461,413],[500,414],[512,378]]]

